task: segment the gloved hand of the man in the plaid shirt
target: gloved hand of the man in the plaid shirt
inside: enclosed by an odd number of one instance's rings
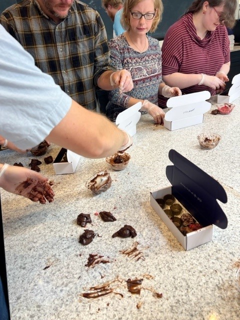
[[[133,82],[129,71],[122,69],[111,73],[111,86],[118,86],[120,92],[128,92],[133,88]]]

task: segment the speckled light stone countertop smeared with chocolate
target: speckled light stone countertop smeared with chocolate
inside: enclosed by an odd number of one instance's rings
[[[99,195],[93,195],[85,181],[108,164],[105,159],[82,157],[74,174],[55,175],[52,164],[40,165],[41,173],[55,182],[53,203],[36,204],[1,190],[11,319],[238,320],[240,100],[234,103],[229,115],[208,111],[203,123],[175,131],[153,125],[150,116],[142,115],[127,151],[128,167],[109,169],[112,185]],[[197,141],[201,132],[220,134],[217,147],[201,149]],[[219,202],[228,218],[227,228],[214,226],[212,241],[189,251],[149,202],[150,191],[169,185],[165,167],[172,164],[170,149],[213,176],[228,197],[227,203]],[[55,157],[58,151],[51,145],[47,155]],[[30,153],[0,152],[0,161],[9,164],[20,161],[27,166],[31,158],[35,157]],[[103,222],[94,215],[102,210],[112,212],[116,221]],[[84,229],[76,224],[81,212],[90,214],[92,224],[87,228],[97,234],[87,246],[78,242]],[[133,226],[137,236],[112,238],[124,224]],[[134,241],[139,242],[144,259],[136,261],[119,252]],[[110,262],[89,268],[85,264],[90,253]],[[121,295],[94,299],[79,295],[117,276],[121,282],[114,283],[114,292]],[[147,289],[141,289],[140,295],[130,293],[125,284],[128,278],[143,278],[142,286],[162,297],[154,297]]]

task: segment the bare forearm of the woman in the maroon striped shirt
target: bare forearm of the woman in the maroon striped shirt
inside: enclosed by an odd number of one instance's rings
[[[201,81],[201,78],[201,73],[184,74],[180,72],[174,72],[162,76],[165,84],[169,86],[177,86],[180,89],[198,84]]]

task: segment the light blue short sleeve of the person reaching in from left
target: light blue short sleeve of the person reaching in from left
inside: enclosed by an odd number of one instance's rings
[[[71,98],[0,25],[0,135],[21,149],[33,147],[70,105]]]

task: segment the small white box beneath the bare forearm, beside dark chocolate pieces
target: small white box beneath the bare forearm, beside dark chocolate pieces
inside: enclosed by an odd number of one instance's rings
[[[67,162],[61,162],[64,154],[66,153]],[[53,161],[53,168],[56,174],[74,173],[77,163],[80,159],[80,155],[70,150],[61,148]]]

